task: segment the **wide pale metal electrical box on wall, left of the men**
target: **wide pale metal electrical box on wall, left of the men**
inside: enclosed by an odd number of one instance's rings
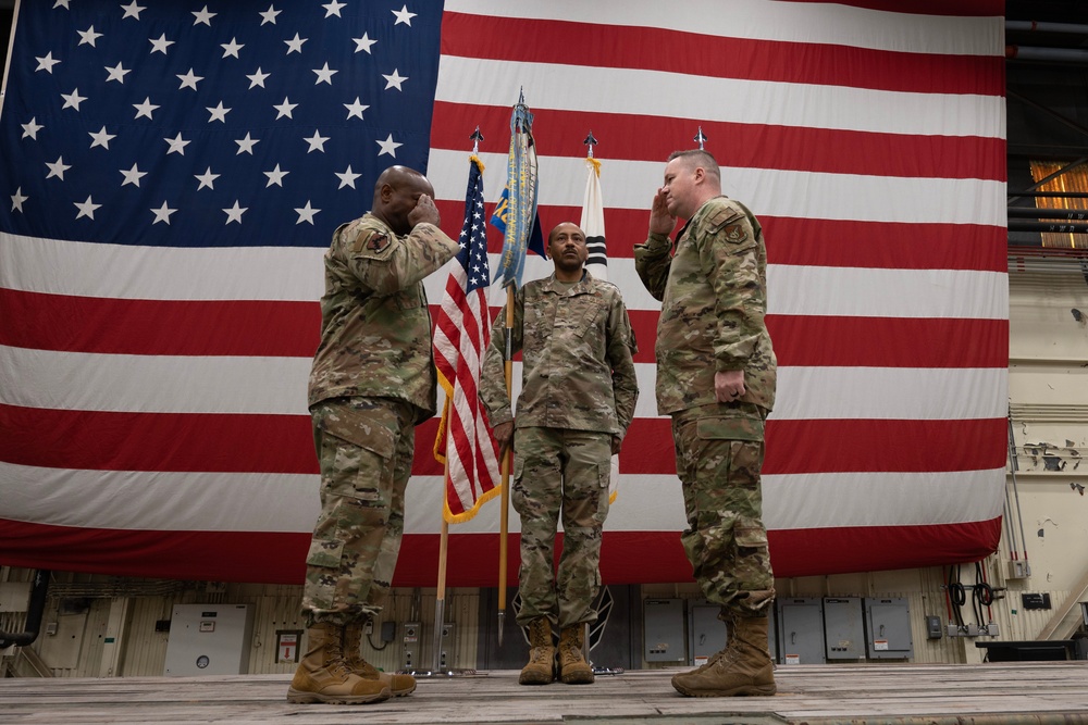
[[[252,633],[248,604],[176,604],[162,674],[244,675],[249,671]]]

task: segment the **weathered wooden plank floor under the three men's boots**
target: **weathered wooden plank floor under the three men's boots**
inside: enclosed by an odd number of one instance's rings
[[[670,671],[521,687],[515,671],[421,678],[371,705],[294,705],[289,677],[0,679],[4,725],[119,723],[1088,723],[1088,662],[780,667],[769,698],[684,698]]]

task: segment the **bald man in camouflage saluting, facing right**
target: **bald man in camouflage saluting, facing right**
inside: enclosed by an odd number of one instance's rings
[[[408,675],[379,673],[359,647],[396,567],[415,426],[436,409],[422,280],[460,248],[438,228],[433,196],[419,172],[385,170],[372,210],[341,225],[325,252],[309,383],[321,515],[306,558],[309,645],[292,702],[374,702],[416,688]]]

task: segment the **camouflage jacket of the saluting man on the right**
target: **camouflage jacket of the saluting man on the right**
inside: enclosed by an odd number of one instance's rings
[[[756,217],[740,202],[715,197],[700,207],[669,255],[651,234],[634,248],[634,266],[662,301],[657,323],[657,411],[714,404],[714,374],[743,370],[738,402],[775,405],[777,362],[767,334],[767,248]]]

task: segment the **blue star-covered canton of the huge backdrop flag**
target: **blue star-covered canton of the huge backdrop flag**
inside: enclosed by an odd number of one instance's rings
[[[324,246],[383,168],[426,172],[441,24],[434,0],[24,2],[0,229]]]

